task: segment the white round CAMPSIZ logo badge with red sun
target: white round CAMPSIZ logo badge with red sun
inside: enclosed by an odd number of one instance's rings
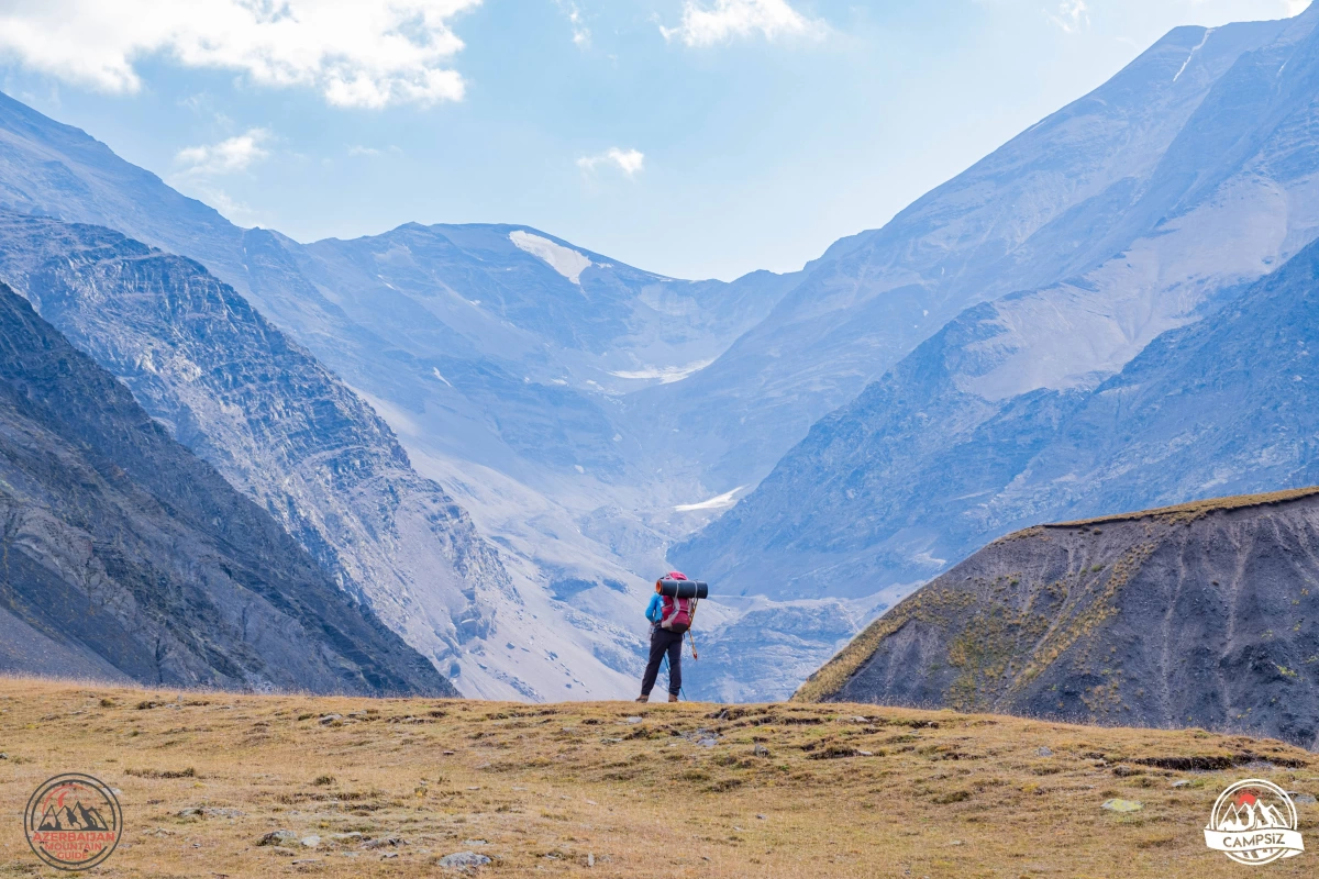
[[[1291,797],[1262,779],[1237,781],[1219,795],[1204,828],[1204,843],[1250,867],[1306,850]]]

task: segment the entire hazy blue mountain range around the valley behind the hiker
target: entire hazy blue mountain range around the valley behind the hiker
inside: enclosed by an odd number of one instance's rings
[[[1319,481],[1316,22],[1178,28],[731,283],[243,229],[0,95],[0,279],[466,695],[629,695],[677,565],[715,586],[689,695],[774,698],[1013,530]]]

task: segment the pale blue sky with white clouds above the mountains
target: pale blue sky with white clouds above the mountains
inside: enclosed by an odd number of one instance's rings
[[[1181,24],[1301,0],[0,0],[5,92],[241,225],[791,270]]]

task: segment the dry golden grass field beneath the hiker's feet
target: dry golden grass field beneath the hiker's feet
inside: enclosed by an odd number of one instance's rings
[[[1304,751],[1198,731],[873,705],[181,696],[0,680],[0,876],[61,875],[20,814],[70,771],[121,792],[123,843],[96,874],[203,879],[455,875],[437,862],[463,850],[493,858],[489,876],[1237,878],[1200,832],[1217,792],[1250,776],[1319,791]],[[1249,755],[1272,766],[1138,762]],[[1145,808],[1115,814],[1111,797]],[[236,812],[179,816],[198,807]],[[1319,846],[1319,807],[1298,808]],[[281,829],[322,842],[257,845]],[[1265,871],[1314,875],[1316,858]]]

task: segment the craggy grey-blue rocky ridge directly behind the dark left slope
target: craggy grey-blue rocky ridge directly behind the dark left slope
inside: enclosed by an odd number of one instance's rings
[[[198,264],[100,227],[0,212],[0,278],[344,589],[460,671],[508,575],[389,427],[310,354]]]

